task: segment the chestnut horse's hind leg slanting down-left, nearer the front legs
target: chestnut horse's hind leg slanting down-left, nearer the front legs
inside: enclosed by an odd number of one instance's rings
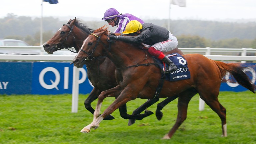
[[[172,129],[168,132],[168,134],[166,134],[162,139],[170,139],[175,131],[179,128],[179,126],[185,121],[185,119],[187,118],[188,103],[196,93],[197,92],[186,91],[179,94],[178,115],[176,122]]]

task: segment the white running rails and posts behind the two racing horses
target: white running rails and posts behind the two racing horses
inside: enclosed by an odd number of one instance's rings
[[[15,47],[15,46],[0,46],[1,50],[41,50],[40,46],[31,47]],[[241,49],[225,49],[225,48],[179,48],[183,53],[202,53],[207,58],[219,61],[256,61],[256,56],[246,56],[248,53],[256,53],[256,49],[241,48]],[[238,55],[211,55],[211,53],[238,53]],[[59,55],[3,55],[0,54],[0,60],[31,60],[31,61],[72,61],[74,55],[59,56]],[[72,112],[78,111],[78,94],[79,94],[79,69],[73,69],[73,89],[72,89]],[[199,98],[199,111],[204,110],[204,101]]]

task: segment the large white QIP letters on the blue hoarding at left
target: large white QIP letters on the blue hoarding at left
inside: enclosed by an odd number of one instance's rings
[[[78,80],[78,83],[80,84],[86,80],[87,73],[84,68],[79,68],[79,71],[82,73],[81,79]],[[51,84],[46,84],[44,81],[44,76],[47,72],[52,72],[55,76],[54,81],[52,79],[50,79]],[[64,84],[63,84],[64,89],[68,89],[68,80],[69,80],[68,75],[69,75],[69,67],[65,67],[64,68]],[[39,83],[45,89],[54,89],[55,88],[56,90],[59,90],[58,85],[60,83],[60,79],[61,79],[60,72],[54,67],[44,68],[39,74]]]

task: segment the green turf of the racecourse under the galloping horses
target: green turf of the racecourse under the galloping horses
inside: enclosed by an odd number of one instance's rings
[[[88,95],[79,95],[78,113],[71,113],[71,94],[67,95],[0,95],[0,143],[3,144],[256,144],[256,95],[252,92],[220,92],[219,101],[227,109],[228,137],[221,137],[221,121],[207,105],[198,111],[196,95],[189,103],[188,117],[170,140],[161,138],[176,121],[177,100],[155,115],[128,126],[119,111],[111,121],[102,121],[90,133],[80,130],[90,124],[93,115],[84,108]],[[102,110],[114,98],[106,98]],[[127,104],[128,113],[146,100]],[[161,100],[160,100],[161,101]],[[96,101],[92,103],[95,108]],[[148,110],[155,112],[156,104]]]

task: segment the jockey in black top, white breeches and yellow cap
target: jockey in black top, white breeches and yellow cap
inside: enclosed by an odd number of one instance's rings
[[[177,69],[177,66],[163,53],[175,49],[178,45],[177,38],[167,29],[152,23],[141,24],[139,21],[132,20],[127,24],[123,34],[127,34],[128,36],[117,37],[109,35],[108,39],[148,44],[150,45],[148,52],[168,65],[168,69],[164,71],[165,73]]]

